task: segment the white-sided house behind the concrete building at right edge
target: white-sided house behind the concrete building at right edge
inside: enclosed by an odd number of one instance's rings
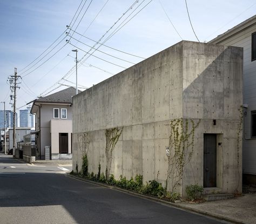
[[[256,184],[256,15],[209,43],[244,47],[244,182]]]

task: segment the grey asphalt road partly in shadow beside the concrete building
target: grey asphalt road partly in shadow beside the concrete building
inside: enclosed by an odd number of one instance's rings
[[[227,223],[70,178],[59,167],[0,158],[0,223]]]

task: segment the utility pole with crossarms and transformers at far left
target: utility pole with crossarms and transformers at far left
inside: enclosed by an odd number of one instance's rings
[[[15,130],[15,126],[16,126],[16,94],[17,94],[17,91],[16,89],[20,88],[19,86],[17,86],[17,84],[20,84],[20,83],[17,83],[17,80],[18,78],[20,78],[21,76],[17,76],[17,69],[16,67],[14,68],[14,76],[10,76],[9,77],[9,83],[10,83],[10,89],[12,92],[14,92],[14,133],[12,135],[12,139],[13,139],[13,144],[12,144],[12,154],[14,155],[15,157],[15,148],[16,148],[16,130]]]

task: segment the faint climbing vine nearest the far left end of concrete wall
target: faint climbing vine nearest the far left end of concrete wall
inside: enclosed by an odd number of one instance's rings
[[[88,159],[87,159],[87,152],[89,150],[90,139],[89,134],[84,132],[83,134],[78,135],[77,137],[78,148],[82,152],[82,169],[81,174],[84,177],[88,175]]]

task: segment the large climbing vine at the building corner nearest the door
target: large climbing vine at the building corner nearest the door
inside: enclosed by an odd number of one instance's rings
[[[171,193],[176,191],[183,178],[184,167],[190,162],[194,150],[194,131],[199,126],[192,119],[170,121],[169,158],[167,180],[171,181]],[[167,181],[166,181],[167,184]]]

